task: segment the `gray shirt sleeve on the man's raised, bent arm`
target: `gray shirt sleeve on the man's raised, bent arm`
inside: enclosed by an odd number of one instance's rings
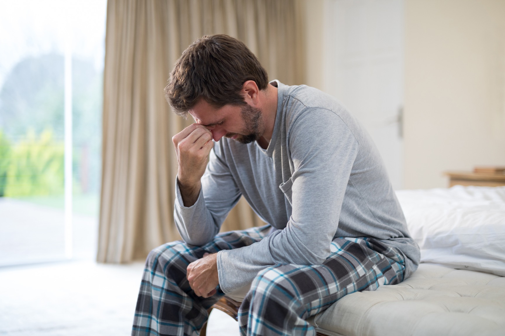
[[[230,210],[241,193],[228,166],[219,157],[220,143],[214,144],[198,199],[191,207],[184,207],[179,183],[175,183],[174,220],[182,239],[191,245],[204,245],[219,232]]]

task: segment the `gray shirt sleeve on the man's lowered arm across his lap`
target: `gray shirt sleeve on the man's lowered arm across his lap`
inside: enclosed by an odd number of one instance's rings
[[[225,293],[250,283],[266,266],[321,264],[330,255],[359,147],[336,113],[322,108],[301,113],[288,130],[294,171],[280,186],[292,205],[291,217],[283,230],[260,242],[218,252],[220,285]]]

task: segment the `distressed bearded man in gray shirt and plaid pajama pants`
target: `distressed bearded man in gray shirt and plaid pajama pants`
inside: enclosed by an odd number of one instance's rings
[[[196,335],[224,293],[250,286],[242,335],[315,335],[308,317],[416,270],[419,248],[377,150],[334,98],[268,83],[226,35],[191,44],[165,90],[196,121],[172,139],[184,242],[147,257],[132,334]],[[268,225],[218,234],[241,195]]]

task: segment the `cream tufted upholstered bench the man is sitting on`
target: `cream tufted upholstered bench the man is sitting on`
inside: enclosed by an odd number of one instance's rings
[[[505,277],[421,263],[401,284],[346,295],[310,322],[335,336],[503,336]]]

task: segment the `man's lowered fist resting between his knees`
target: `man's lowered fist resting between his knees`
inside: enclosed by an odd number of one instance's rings
[[[186,270],[189,286],[196,295],[208,298],[216,294],[219,285],[217,253],[205,253],[203,258],[191,262]]]

